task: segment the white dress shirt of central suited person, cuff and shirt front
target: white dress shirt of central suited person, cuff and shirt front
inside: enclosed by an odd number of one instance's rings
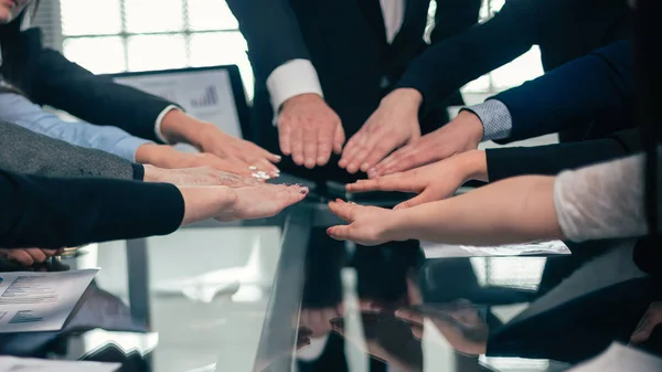
[[[406,0],[380,0],[386,29],[386,41],[393,42],[405,18]],[[314,93],[324,96],[317,71],[308,60],[291,60],[276,67],[267,78],[274,113],[293,96]]]

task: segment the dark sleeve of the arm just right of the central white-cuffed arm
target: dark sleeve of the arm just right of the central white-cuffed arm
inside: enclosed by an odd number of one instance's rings
[[[437,42],[407,67],[395,87],[420,92],[424,113],[434,108],[465,84],[504,65],[536,44],[537,32],[544,20],[537,9],[540,2],[506,1],[488,22]],[[451,2],[447,2],[446,7]],[[450,22],[451,26],[437,31],[436,39],[441,39],[458,26],[453,25],[455,20],[445,22]]]

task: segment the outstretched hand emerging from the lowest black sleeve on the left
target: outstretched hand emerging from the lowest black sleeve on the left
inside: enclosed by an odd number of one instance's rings
[[[180,187],[184,199],[182,225],[207,219],[228,222],[274,216],[300,202],[308,188],[268,184],[231,189],[227,187]]]

